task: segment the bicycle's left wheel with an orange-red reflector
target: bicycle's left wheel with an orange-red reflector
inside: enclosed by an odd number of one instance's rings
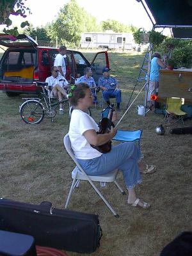
[[[22,105],[20,116],[26,124],[39,124],[45,116],[44,108],[36,100],[28,100]]]

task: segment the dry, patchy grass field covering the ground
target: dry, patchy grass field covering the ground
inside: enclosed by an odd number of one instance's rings
[[[92,59],[93,52],[85,53]],[[122,89],[125,108],[138,77],[142,55],[109,52],[111,73]],[[136,92],[140,86],[136,88]],[[136,93],[134,93],[134,97]],[[74,163],[63,148],[63,136],[68,132],[68,109],[65,115],[56,115],[54,123],[45,118],[39,125],[27,125],[19,115],[21,97],[8,98],[0,93],[1,179],[0,196],[22,202],[40,204],[51,201],[54,207],[63,207],[71,184],[70,173]],[[100,248],[93,256],[157,256],[163,247],[180,232],[191,230],[191,143],[192,137],[172,135],[163,115],[152,111],[138,116],[135,106],[143,104],[144,93],[138,97],[120,124],[120,129],[143,129],[141,151],[145,163],[157,165],[157,172],[143,175],[138,186],[140,198],[151,204],[149,210],[134,209],[127,205],[115,185],[100,188],[103,195],[120,215],[116,219],[89,184],[81,183],[72,194],[69,209],[99,214],[103,236]],[[99,120],[101,109],[92,109]],[[122,112],[123,113],[123,112]],[[118,114],[118,118],[122,115]],[[163,124],[166,134],[159,136],[155,129]],[[187,120],[184,126],[191,125]],[[123,188],[122,174],[118,182]],[[76,256],[80,253],[67,252]],[[83,254],[87,255],[87,254]]]

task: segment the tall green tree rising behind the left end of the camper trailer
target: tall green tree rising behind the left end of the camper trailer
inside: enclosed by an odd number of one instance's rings
[[[57,19],[49,26],[48,35],[60,44],[73,43],[79,45],[81,33],[95,30],[96,19],[81,8],[76,0],[70,0],[60,9]]]

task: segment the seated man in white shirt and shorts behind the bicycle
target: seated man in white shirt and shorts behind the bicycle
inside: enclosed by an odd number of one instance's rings
[[[63,97],[67,96],[67,92],[65,92],[64,86],[68,85],[65,77],[59,74],[59,70],[57,67],[51,67],[51,74],[46,78],[45,83],[48,83],[49,86],[52,86],[52,93],[54,96],[58,97],[59,101],[63,99]],[[60,115],[63,115],[63,104],[60,104]]]

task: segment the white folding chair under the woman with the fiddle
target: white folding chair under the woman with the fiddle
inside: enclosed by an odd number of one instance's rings
[[[86,172],[84,172],[83,168],[81,168],[81,165],[77,162],[76,157],[74,156],[74,152],[71,148],[70,139],[68,134],[65,135],[63,138],[63,143],[65,145],[65,148],[69,154],[69,156],[73,159],[74,163],[76,163],[76,168],[72,171],[72,185],[70,187],[70,191],[67,196],[67,201],[65,203],[65,208],[67,208],[70,196],[72,195],[72,191],[74,188],[76,188],[79,185],[80,180],[86,180],[88,181],[92,188],[95,189],[97,194],[100,196],[100,198],[104,201],[104,203],[108,206],[109,210],[115,215],[115,217],[118,218],[118,214],[113,210],[111,205],[108,203],[108,201],[104,198],[104,196],[100,193],[99,189],[95,187],[93,182],[114,182],[118,189],[120,189],[122,195],[125,195],[125,191],[120,187],[120,185],[116,182],[116,175],[118,173],[118,169],[113,170],[113,172],[110,172],[106,175],[101,176],[90,176],[87,175]]]

